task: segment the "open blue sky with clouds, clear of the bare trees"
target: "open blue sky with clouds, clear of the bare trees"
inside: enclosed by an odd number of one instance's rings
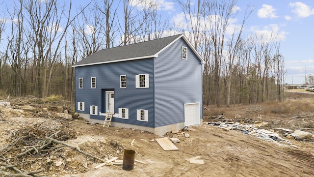
[[[75,1],[86,4],[86,0]],[[170,22],[184,20],[176,0],[154,1]],[[246,21],[244,33],[278,34],[287,71],[285,83],[303,85],[306,74],[314,75],[314,0],[237,0],[238,23],[248,5],[255,10]]]

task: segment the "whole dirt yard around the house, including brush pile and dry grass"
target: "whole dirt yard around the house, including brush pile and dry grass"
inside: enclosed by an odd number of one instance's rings
[[[10,106],[0,107],[0,175],[313,177],[314,138],[288,139],[285,135],[291,132],[283,130],[314,134],[314,94],[305,94],[287,92],[283,103],[233,105],[231,108],[206,106],[202,126],[163,136],[178,138],[180,143],[174,145],[179,150],[163,150],[155,140],[163,137],[146,131],[106,128],[87,122],[75,116],[73,107],[63,102],[12,99]],[[64,110],[73,118],[57,114]],[[277,133],[288,141],[271,141],[252,131],[249,135],[257,121],[262,125],[258,129]],[[218,124],[234,128],[221,128]],[[103,162],[91,156],[122,160],[125,149],[134,150],[135,160],[145,164],[135,162],[131,171],[123,170],[121,165],[94,169]],[[204,164],[190,163],[189,158],[196,156],[200,156],[197,160],[203,160]]]

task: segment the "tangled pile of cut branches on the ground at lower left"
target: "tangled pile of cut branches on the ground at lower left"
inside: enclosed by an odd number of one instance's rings
[[[39,158],[46,158],[63,149],[53,140],[65,141],[76,138],[76,132],[66,126],[50,127],[35,124],[21,129],[12,130],[8,135],[8,144],[0,148],[0,174],[3,176],[38,177],[39,169],[28,172],[30,162]],[[28,160],[25,159],[35,159]]]

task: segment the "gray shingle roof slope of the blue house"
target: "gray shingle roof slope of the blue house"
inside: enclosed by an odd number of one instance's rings
[[[163,37],[155,40],[102,49],[85,59],[75,63],[73,67],[93,65],[106,62],[116,62],[127,59],[142,59],[158,54],[159,51],[164,49],[171,42],[179,38],[183,34],[178,34],[169,37]]]

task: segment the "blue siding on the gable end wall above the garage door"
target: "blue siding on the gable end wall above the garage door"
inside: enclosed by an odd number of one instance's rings
[[[182,38],[154,60],[154,86],[155,127],[184,122],[184,103],[199,102],[202,118],[202,64]]]

